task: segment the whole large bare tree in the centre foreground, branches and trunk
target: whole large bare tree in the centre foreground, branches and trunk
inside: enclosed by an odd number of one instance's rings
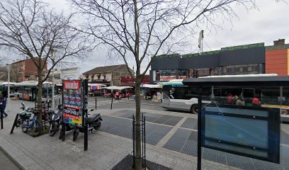
[[[182,45],[187,35],[200,26],[216,28],[215,19],[231,21],[236,16],[232,8],[254,6],[253,0],[70,0],[86,23],[79,30],[110,47],[110,53],[135,59],[136,121],[140,125],[140,84],[158,55]],[[141,72],[146,57],[150,61]],[[130,69],[128,69],[130,72]],[[130,72],[133,76],[133,73]],[[141,157],[140,126],[137,126],[136,157]],[[137,159],[136,169],[142,162]]]

